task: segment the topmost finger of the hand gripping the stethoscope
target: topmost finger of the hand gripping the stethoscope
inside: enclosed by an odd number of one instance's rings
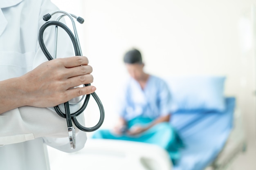
[[[81,66],[81,65],[88,65],[89,61],[87,57],[84,56],[74,56],[74,57],[67,57],[62,58],[64,60],[64,66],[66,68]]]

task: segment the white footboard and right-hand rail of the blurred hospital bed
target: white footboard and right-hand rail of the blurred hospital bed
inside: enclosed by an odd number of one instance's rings
[[[242,117],[236,112],[234,129],[222,152],[205,170],[225,170],[240,152],[245,151]],[[88,139],[79,152],[50,149],[51,170],[171,170],[168,153],[153,144],[110,139]],[[54,152],[56,155],[54,155]],[[57,153],[58,152],[58,153]]]

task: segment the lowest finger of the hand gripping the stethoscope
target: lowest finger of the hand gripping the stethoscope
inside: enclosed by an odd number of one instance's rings
[[[85,86],[85,87],[78,87],[78,88],[69,89],[65,93],[68,96],[67,101],[69,101],[70,99],[73,99],[75,97],[91,94],[95,90],[96,90],[96,87],[94,87],[94,86]]]

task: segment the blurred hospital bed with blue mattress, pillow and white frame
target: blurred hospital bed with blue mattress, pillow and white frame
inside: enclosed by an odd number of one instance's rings
[[[174,95],[173,103],[176,103],[173,105],[170,124],[177,129],[186,146],[181,150],[181,159],[177,165],[173,166],[168,153],[153,144],[88,139],[79,152],[63,153],[61,157],[52,156],[52,170],[227,169],[234,158],[245,151],[246,142],[236,98],[225,97],[223,93],[225,77],[165,79]],[[190,98],[193,100],[189,101]],[[63,160],[67,160],[67,163]]]

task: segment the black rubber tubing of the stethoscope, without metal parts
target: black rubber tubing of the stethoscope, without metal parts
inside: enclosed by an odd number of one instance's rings
[[[48,60],[53,60],[53,57],[51,56],[51,54],[49,53],[49,51],[47,50],[47,48],[45,46],[45,43],[43,41],[43,33],[44,33],[45,29],[48,26],[51,26],[51,25],[60,26],[62,29],[64,29],[67,32],[67,34],[70,36],[70,39],[71,39],[72,44],[74,46],[75,55],[76,56],[81,56],[81,51],[79,50],[78,42],[76,41],[76,38],[74,37],[72,31],[70,31],[70,29],[65,24],[63,24],[62,22],[59,22],[59,21],[48,21],[45,24],[43,24],[43,26],[40,28],[39,33],[38,33],[39,45],[40,45],[43,53],[47,57],[47,59]],[[90,86],[90,84],[84,84],[84,85],[85,86]],[[87,127],[82,126],[79,123],[79,121],[76,119],[76,116],[78,116],[81,113],[83,113],[83,111],[85,110],[85,108],[86,108],[86,106],[87,106],[87,104],[89,102],[90,95],[92,95],[92,97],[95,99],[95,101],[97,102],[97,104],[99,106],[100,118],[99,118],[99,122],[95,126],[87,128]],[[92,94],[86,95],[85,100],[83,102],[83,105],[75,113],[70,113],[69,106],[67,106],[67,105],[68,105],[68,102],[65,102],[65,104],[64,104],[64,106],[65,106],[65,113],[62,113],[58,106],[55,106],[54,109],[55,109],[56,113],[59,116],[67,119],[68,127],[72,127],[72,121],[73,121],[75,126],[77,128],[79,128],[80,130],[85,131],[85,132],[92,132],[94,130],[99,129],[101,127],[101,125],[103,124],[104,117],[105,117],[104,108],[103,108],[103,105],[102,105],[99,97],[97,96],[97,94],[95,92],[92,93]]]

